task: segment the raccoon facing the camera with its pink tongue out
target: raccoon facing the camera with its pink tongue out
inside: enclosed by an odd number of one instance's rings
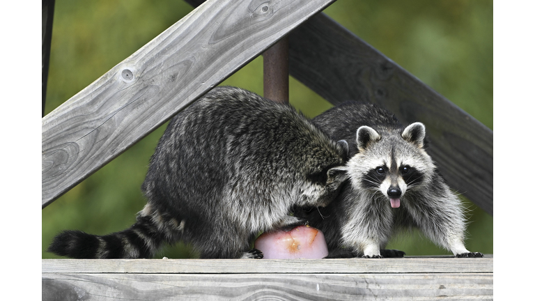
[[[457,257],[481,257],[464,245],[465,209],[444,183],[424,149],[422,123],[403,127],[385,109],[346,102],[313,118],[333,139],[346,139],[350,180],[321,210],[303,210],[325,234],[329,258],[382,258],[405,252],[384,249],[391,236],[415,227]]]

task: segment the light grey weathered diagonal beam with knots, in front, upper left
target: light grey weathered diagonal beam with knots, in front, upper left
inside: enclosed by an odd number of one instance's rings
[[[42,118],[42,208],[334,0],[209,0]]]

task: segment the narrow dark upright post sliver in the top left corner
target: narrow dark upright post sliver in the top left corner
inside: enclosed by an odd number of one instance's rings
[[[42,40],[41,40],[41,90],[42,116],[45,116],[45,100],[47,99],[48,66],[50,61],[50,44],[52,43],[52,23],[54,21],[55,0],[42,0]]]

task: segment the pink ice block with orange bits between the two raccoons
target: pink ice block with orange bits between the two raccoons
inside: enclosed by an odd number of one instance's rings
[[[311,226],[263,233],[256,238],[254,247],[262,251],[265,259],[315,259],[329,254],[325,236]]]

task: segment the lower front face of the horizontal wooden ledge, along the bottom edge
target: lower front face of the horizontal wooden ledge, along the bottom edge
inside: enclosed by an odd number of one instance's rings
[[[43,274],[42,300],[493,299],[492,274]]]

